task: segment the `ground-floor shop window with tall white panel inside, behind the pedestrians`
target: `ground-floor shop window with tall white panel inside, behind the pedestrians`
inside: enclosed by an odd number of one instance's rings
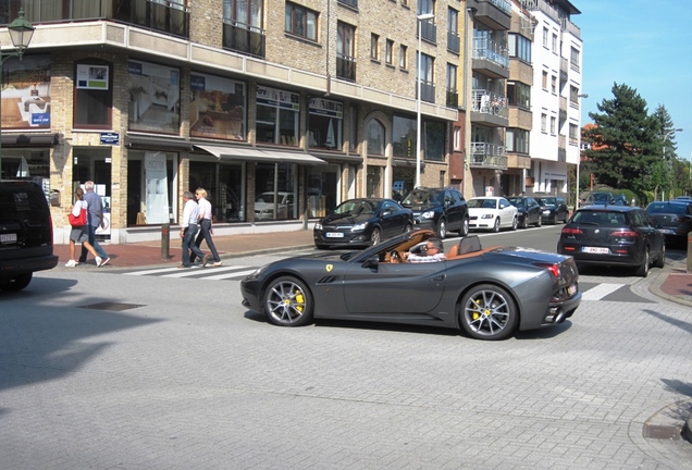
[[[177,221],[177,154],[131,150],[127,156],[127,225]]]

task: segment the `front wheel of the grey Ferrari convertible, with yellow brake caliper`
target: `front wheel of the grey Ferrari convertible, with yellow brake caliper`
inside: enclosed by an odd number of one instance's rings
[[[264,312],[279,326],[302,326],[312,321],[312,294],[296,277],[277,277],[264,292]]]

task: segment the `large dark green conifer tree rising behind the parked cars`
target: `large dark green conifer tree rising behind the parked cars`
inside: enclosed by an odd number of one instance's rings
[[[652,170],[660,165],[660,123],[635,89],[616,83],[611,91],[613,99],[596,104],[601,113],[589,113],[595,126],[583,129],[591,144],[584,166],[598,183],[641,196],[659,177]]]

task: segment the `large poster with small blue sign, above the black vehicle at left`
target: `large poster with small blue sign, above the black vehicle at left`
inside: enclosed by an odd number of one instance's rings
[[[50,55],[24,55],[2,64],[3,129],[50,128]]]

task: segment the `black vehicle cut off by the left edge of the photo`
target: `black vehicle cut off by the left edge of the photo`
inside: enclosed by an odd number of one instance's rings
[[[30,181],[0,182],[0,290],[22,290],[34,271],[57,264],[53,224],[41,188]]]

